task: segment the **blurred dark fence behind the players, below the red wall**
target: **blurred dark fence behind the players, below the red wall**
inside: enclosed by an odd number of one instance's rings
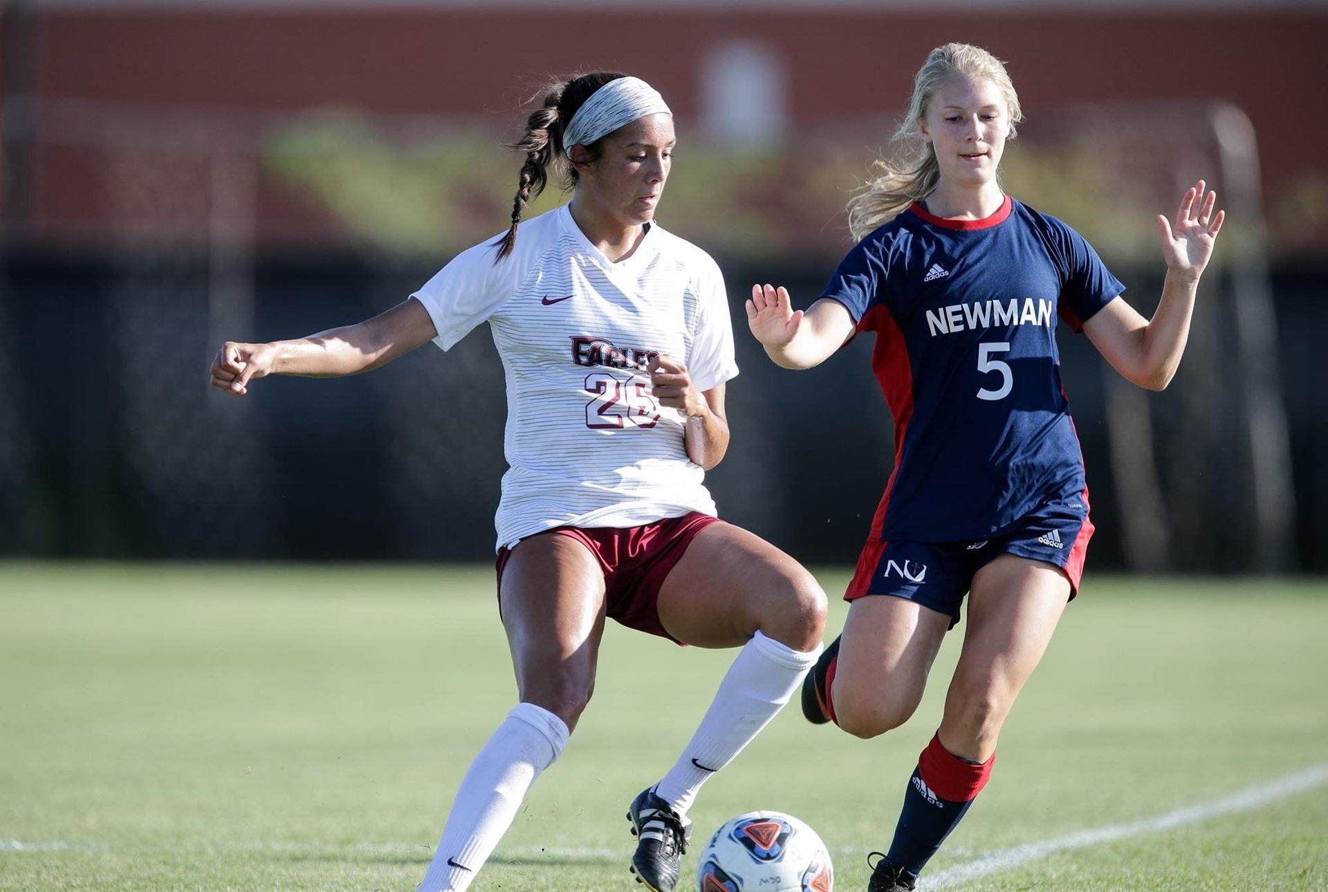
[[[708,476],[721,514],[806,561],[851,561],[892,455],[890,416],[869,370],[871,339],[818,370],[780,370],[746,334],[740,295],[760,279],[810,296],[827,269],[724,267],[742,372],[729,388],[733,444]],[[206,387],[215,350],[201,296],[206,258],[173,253],[163,263],[153,254],[11,246],[3,270],[0,417],[12,427],[0,437],[0,553],[449,561],[491,553],[505,415],[501,366],[485,327],[448,354],[426,346],[352,379],[272,378],[235,400]],[[260,253],[251,336],[367,318],[432,273],[424,261],[389,263],[349,251]],[[1157,282],[1154,269],[1117,273],[1141,294]],[[1272,282],[1293,467],[1289,566],[1324,572],[1320,334],[1328,331],[1328,273],[1287,266]],[[137,311],[126,310],[125,288]],[[171,336],[143,326],[167,327]],[[1061,330],[1060,343],[1098,526],[1092,564],[1123,568],[1122,513],[1131,505],[1117,495],[1105,408],[1114,372],[1085,338]],[[1150,413],[1178,412],[1186,386],[1182,371],[1173,388],[1147,395]],[[1251,566],[1251,521],[1230,508],[1243,484],[1212,468],[1194,457],[1162,475],[1169,493],[1198,492],[1202,500],[1178,509],[1175,524],[1194,529],[1173,533],[1165,569]]]

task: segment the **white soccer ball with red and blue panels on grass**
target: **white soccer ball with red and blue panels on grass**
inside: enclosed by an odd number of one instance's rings
[[[830,851],[793,815],[752,811],[717,831],[696,865],[699,892],[831,892]]]

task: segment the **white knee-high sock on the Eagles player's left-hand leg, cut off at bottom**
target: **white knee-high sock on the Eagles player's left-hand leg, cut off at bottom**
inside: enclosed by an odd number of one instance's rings
[[[507,832],[539,772],[567,746],[560,718],[518,703],[470,763],[418,892],[462,892]]]

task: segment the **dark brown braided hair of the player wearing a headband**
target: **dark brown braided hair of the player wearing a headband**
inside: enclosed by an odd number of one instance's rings
[[[511,227],[494,242],[498,246],[494,263],[511,254],[517,246],[517,226],[521,225],[521,214],[527,203],[544,191],[550,167],[554,167],[562,178],[563,191],[571,191],[576,187],[576,167],[567,162],[567,156],[563,152],[563,130],[576,110],[591,97],[591,93],[619,77],[627,77],[627,74],[592,72],[568,81],[558,81],[543,90],[539,106],[526,120],[526,132],[507,146],[523,152],[526,162],[521,166],[521,174],[517,177],[517,197],[511,202]],[[603,153],[602,142],[603,140],[596,140],[586,146],[588,162],[599,161]]]

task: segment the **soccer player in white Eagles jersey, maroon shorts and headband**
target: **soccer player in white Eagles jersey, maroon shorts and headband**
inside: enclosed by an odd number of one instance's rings
[[[604,618],[701,647],[741,647],[677,763],[628,808],[632,871],[669,892],[701,784],[784,707],[821,651],[825,593],[793,558],[720,521],[703,475],[729,443],[737,375],[724,280],[653,223],[673,117],[644,81],[592,73],[552,86],[526,153],[511,227],[406,300],[345,328],[226,343],[212,386],[377,368],[487,322],[507,379],[498,602],[519,702],[471,763],[421,892],[459,892],[567,744],[590,699]],[[572,199],[521,225],[550,167]]]

